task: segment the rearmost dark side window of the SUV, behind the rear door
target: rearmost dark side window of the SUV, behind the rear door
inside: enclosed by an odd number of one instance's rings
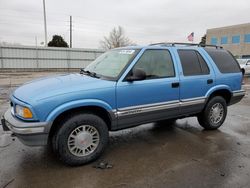
[[[236,73],[241,72],[239,64],[234,59],[232,54],[226,50],[204,48],[213,59],[221,73]]]

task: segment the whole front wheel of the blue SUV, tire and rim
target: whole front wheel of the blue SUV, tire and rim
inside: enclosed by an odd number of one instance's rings
[[[94,114],[76,114],[62,122],[54,135],[53,148],[68,165],[82,165],[97,159],[108,143],[106,123]]]

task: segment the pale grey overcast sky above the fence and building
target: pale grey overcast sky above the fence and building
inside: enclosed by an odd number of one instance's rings
[[[118,25],[136,44],[199,42],[208,28],[250,22],[250,0],[46,0],[48,41],[62,35],[73,47],[99,48]],[[35,45],[44,41],[42,0],[0,0],[0,42]]]

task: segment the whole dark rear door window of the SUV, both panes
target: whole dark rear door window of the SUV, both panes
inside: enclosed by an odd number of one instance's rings
[[[184,76],[209,74],[205,60],[195,50],[178,50]]]

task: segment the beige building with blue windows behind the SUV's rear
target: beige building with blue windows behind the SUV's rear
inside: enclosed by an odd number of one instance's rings
[[[206,43],[223,46],[235,56],[250,58],[250,23],[208,29]]]

